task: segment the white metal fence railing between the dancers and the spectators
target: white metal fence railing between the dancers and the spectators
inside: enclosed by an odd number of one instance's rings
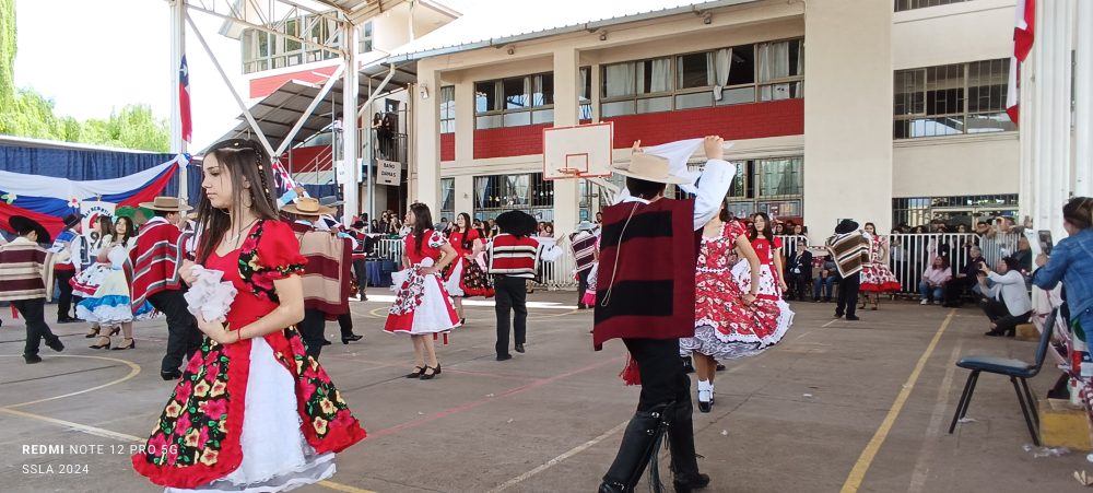
[[[949,259],[950,268],[955,275],[967,265],[969,243],[979,246],[984,258],[992,268],[998,259],[1016,251],[1019,237],[1020,235],[1013,233],[999,234],[992,238],[965,233],[888,235],[885,238],[889,244],[889,267],[900,280],[902,293],[917,293],[922,271],[929,266],[932,247],[936,246],[938,253]],[[787,235],[780,238],[783,254],[787,259],[797,251],[800,240],[809,242],[807,236]],[[559,247],[563,249],[564,255],[553,262],[542,262],[536,283],[538,286],[549,290],[576,289],[577,281],[573,278],[575,267],[573,255],[566,242],[562,243],[563,245]],[[403,245],[402,238],[380,239],[376,244],[376,253],[399,263],[402,260]],[[823,245],[809,245],[808,248],[818,262],[821,257],[827,255]]]

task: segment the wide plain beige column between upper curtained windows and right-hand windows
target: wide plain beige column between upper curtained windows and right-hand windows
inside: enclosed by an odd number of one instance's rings
[[[810,0],[804,33],[804,223],[891,231],[892,2]]]

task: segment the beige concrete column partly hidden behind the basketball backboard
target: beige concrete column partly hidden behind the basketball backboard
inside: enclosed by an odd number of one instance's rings
[[[579,96],[580,73],[579,57],[573,48],[559,48],[554,51],[554,126],[572,127],[577,125],[577,106]],[[581,179],[554,180],[554,232],[568,234],[577,225],[579,216],[578,201]]]

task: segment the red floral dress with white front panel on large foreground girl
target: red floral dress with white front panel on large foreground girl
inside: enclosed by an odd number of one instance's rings
[[[273,281],[302,274],[304,261],[278,221],[260,221],[239,249],[210,256],[204,267],[238,290],[225,327],[275,309]],[[289,326],[228,344],[204,338],[132,465],[167,492],[280,492],[331,477],[334,454],[365,435]]]

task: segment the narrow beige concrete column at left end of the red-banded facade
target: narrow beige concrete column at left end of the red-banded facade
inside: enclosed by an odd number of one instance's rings
[[[414,98],[414,131],[418,133],[416,155],[416,193],[418,201],[428,206],[434,214],[440,207],[440,74],[422,60],[418,63],[418,86],[413,87]],[[428,97],[422,97],[427,94]],[[457,105],[458,107],[458,105]]]

